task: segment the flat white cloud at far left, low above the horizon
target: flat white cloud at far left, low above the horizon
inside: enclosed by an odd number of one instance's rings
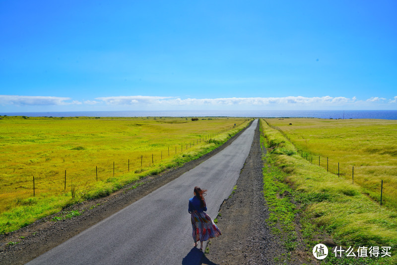
[[[59,96],[29,96],[29,95],[0,95],[0,104],[2,105],[70,105],[81,104],[80,101],[70,100],[70,97]]]

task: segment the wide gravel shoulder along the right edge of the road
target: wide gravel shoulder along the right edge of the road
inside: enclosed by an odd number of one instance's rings
[[[274,264],[282,246],[265,223],[269,212],[263,196],[262,169],[258,125],[237,188],[219,209],[217,225],[222,235],[210,240],[201,264]]]

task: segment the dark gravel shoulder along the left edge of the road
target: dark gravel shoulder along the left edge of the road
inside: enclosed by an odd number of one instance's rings
[[[109,196],[83,201],[62,210],[79,211],[81,213],[79,216],[62,221],[51,221],[54,216],[60,215],[60,213],[57,213],[37,220],[14,232],[1,235],[0,264],[25,264],[62,244],[69,238],[72,238],[92,225],[120,211],[150,192],[195,168],[208,158],[216,155],[229,146],[251,126],[251,124],[252,121],[223,145],[196,160],[186,163],[182,167],[167,170],[157,176],[143,177]],[[136,188],[132,188],[137,183],[140,185],[136,186]],[[10,245],[8,244],[9,242],[18,243]]]

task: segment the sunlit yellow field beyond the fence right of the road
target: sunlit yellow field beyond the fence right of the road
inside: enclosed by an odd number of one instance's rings
[[[271,118],[299,154],[351,179],[382,203],[397,207],[397,121],[375,119]],[[290,125],[291,123],[291,125]],[[303,153],[302,153],[303,152]],[[328,163],[327,163],[328,158]],[[354,172],[353,172],[354,167]],[[354,174],[354,179],[353,179]]]

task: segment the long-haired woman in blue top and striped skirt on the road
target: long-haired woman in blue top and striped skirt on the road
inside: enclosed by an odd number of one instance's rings
[[[196,248],[197,242],[200,241],[200,251],[202,251],[203,241],[222,235],[208,214],[204,213],[207,210],[204,200],[205,191],[207,190],[195,187],[193,191],[195,196],[189,199],[188,210],[192,217],[194,246]]]

